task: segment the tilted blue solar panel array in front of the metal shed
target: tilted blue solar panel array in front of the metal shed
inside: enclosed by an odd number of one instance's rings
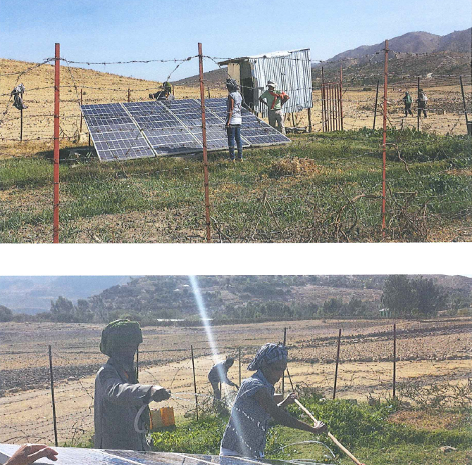
[[[194,98],[82,105],[81,110],[100,160],[130,160],[203,150],[201,103]],[[205,115],[207,150],[227,148],[226,98],[206,99]],[[290,142],[244,108],[241,139],[245,147]]]

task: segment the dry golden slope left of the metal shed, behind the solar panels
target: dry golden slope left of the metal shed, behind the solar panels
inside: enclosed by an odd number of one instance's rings
[[[54,137],[54,65],[42,65],[0,58],[0,159],[23,157],[38,151],[51,150]],[[198,63],[197,63],[198,66]],[[198,69],[198,68],[197,68]],[[27,71],[29,70],[29,71]],[[26,71],[26,72],[25,72]],[[25,72],[24,75],[19,75]],[[11,74],[13,73],[13,74]],[[26,91],[23,101],[23,143],[20,144],[20,111],[11,104],[8,92],[23,83]],[[149,94],[161,89],[161,82],[123,77],[108,72],[61,65],[60,137],[61,147],[77,146],[87,141],[87,125],[81,123],[80,92],[82,103],[119,103],[149,101]],[[208,89],[205,89],[208,96]],[[176,98],[200,98],[199,87],[174,87]],[[221,89],[211,89],[210,96],[223,96]],[[82,130],[81,130],[82,129]],[[28,143],[28,141],[30,141]],[[69,141],[77,141],[69,144]]]

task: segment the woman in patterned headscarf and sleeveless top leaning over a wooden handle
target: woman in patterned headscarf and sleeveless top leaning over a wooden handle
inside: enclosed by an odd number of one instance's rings
[[[283,399],[282,394],[275,394],[274,385],[286,368],[285,345],[267,343],[257,351],[256,357],[247,367],[256,373],[241,383],[231,410],[230,421],[221,440],[221,455],[256,459],[264,457],[268,421],[271,417],[277,423],[290,428],[314,434],[326,431],[327,427],[322,421],[310,426],[280,408],[292,404],[298,397],[297,393],[290,393]]]

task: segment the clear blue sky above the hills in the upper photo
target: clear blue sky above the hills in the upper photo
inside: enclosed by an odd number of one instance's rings
[[[406,32],[445,35],[472,24],[470,0],[0,0],[0,58],[39,62],[222,58],[310,48],[313,60]],[[175,65],[96,65],[99,71],[162,81]],[[205,60],[204,70],[217,66]],[[173,79],[198,73],[184,63]]]

